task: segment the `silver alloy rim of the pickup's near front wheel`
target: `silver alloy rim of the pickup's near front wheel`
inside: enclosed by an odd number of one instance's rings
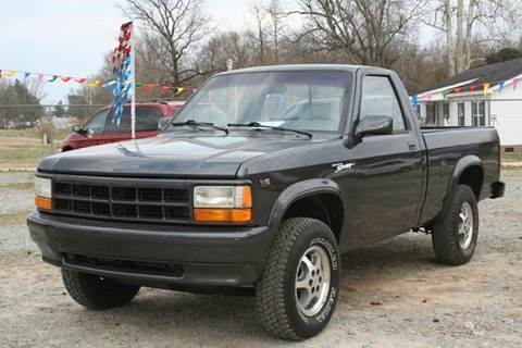
[[[299,260],[296,275],[296,302],[306,316],[319,313],[328,298],[330,258],[320,246],[312,246]]]

